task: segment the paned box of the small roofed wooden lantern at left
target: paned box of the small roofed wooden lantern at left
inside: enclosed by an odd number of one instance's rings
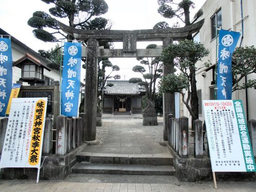
[[[42,68],[36,65],[24,65],[23,78],[42,79]]]

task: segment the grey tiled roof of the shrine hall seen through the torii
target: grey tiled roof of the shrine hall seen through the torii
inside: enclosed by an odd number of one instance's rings
[[[106,84],[112,83],[113,86],[104,88],[105,95],[141,95],[146,92],[144,86],[132,83],[128,80],[108,80]]]

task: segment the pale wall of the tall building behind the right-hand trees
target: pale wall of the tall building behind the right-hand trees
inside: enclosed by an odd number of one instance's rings
[[[242,47],[245,46],[256,46],[256,1],[243,1],[243,16],[247,18],[244,19],[244,38],[242,42]],[[200,42],[204,44],[205,48],[209,50],[209,56],[204,59],[204,62],[209,60],[212,64],[216,63],[216,38],[211,40],[211,16],[214,15],[218,10],[221,9],[222,13],[222,29],[229,30],[231,27],[230,19],[230,1],[221,1],[221,0],[207,0],[202,6],[203,15],[200,19],[204,20],[204,25],[200,30]],[[237,24],[241,20],[241,1],[233,1],[233,24]],[[234,26],[234,31],[242,32],[242,24],[239,23]],[[242,34],[241,34],[242,36]],[[219,40],[219,39],[217,39]],[[238,42],[237,47],[239,47],[241,41]],[[197,63],[199,67],[202,63]],[[202,73],[205,72],[205,69],[202,69],[197,72],[197,90],[202,91],[202,100],[210,99],[210,90],[209,87],[212,87],[212,70],[206,72],[206,77],[202,77]],[[256,74],[248,75],[248,79],[255,79]],[[256,90],[248,89],[248,115],[249,119],[256,119],[256,102],[253,100],[256,95]],[[245,90],[234,92],[232,94],[232,99],[242,99],[245,112],[246,112],[246,100],[245,100]],[[189,113],[185,112],[186,107],[183,106],[184,115],[189,117]],[[186,115],[187,114],[187,115]],[[199,117],[201,120],[204,120],[203,116]],[[190,123],[190,120],[189,120]],[[190,124],[191,125],[191,124]]]

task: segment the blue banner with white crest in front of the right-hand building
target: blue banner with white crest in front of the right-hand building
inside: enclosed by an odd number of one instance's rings
[[[217,99],[232,97],[232,53],[237,46],[240,33],[220,30],[217,67]]]

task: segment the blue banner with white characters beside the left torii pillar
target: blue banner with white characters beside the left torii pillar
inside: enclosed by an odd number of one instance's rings
[[[65,42],[61,81],[61,115],[77,117],[81,73],[80,42]]]

